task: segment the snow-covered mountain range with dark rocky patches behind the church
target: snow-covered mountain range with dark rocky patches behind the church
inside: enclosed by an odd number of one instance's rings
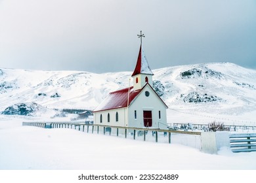
[[[167,118],[172,121],[185,121],[186,114],[256,121],[255,70],[233,63],[205,63],[153,73],[153,88],[169,106]],[[131,74],[0,69],[0,111],[17,103],[93,110],[109,92],[128,87]]]

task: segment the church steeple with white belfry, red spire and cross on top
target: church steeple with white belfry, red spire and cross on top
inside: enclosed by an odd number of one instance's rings
[[[152,85],[152,76],[154,75],[148,65],[148,61],[146,59],[146,55],[142,48],[142,37],[145,37],[144,34],[140,31],[140,51],[139,56],[137,59],[137,64],[135,70],[133,71],[133,89],[139,90],[141,89],[146,83]]]

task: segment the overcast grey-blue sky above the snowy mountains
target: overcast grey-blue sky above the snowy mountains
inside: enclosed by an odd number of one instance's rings
[[[133,71],[232,62],[256,69],[255,0],[0,0],[0,67]]]

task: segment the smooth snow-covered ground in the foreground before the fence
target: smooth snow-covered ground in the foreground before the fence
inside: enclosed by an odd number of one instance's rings
[[[181,144],[22,126],[0,115],[1,170],[255,170],[256,152],[205,154]]]

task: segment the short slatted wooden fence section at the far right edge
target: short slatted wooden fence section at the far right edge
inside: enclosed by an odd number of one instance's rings
[[[256,151],[256,133],[231,134],[229,138],[232,152]]]

